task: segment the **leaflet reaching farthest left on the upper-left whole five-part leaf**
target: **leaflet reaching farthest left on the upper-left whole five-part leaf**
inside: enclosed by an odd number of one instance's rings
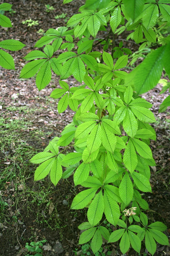
[[[37,59],[35,61],[27,63],[21,70],[20,78],[33,77],[45,62],[46,59]]]

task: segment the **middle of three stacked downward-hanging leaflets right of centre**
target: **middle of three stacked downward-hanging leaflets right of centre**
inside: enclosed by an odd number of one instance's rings
[[[137,166],[137,154],[135,148],[133,146],[133,142],[131,140],[128,141],[126,146],[124,155],[123,155],[123,162],[129,172],[132,174]]]

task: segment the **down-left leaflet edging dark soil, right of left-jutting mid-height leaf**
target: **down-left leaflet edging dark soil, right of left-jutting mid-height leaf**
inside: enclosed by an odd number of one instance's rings
[[[89,164],[82,163],[78,166],[74,174],[75,186],[78,184],[81,184],[83,181],[85,181],[88,178],[89,169],[90,169]]]

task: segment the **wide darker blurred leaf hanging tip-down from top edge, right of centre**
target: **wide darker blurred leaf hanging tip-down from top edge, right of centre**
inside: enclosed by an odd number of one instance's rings
[[[126,13],[132,20],[135,20],[143,11],[144,0],[124,0]]]

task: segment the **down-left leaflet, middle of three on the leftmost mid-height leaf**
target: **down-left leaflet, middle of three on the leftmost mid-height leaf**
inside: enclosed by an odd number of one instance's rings
[[[35,170],[34,180],[43,179],[49,174],[52,164],[54,163],[55,157],[50,158],[43,162],[37,169]]]

